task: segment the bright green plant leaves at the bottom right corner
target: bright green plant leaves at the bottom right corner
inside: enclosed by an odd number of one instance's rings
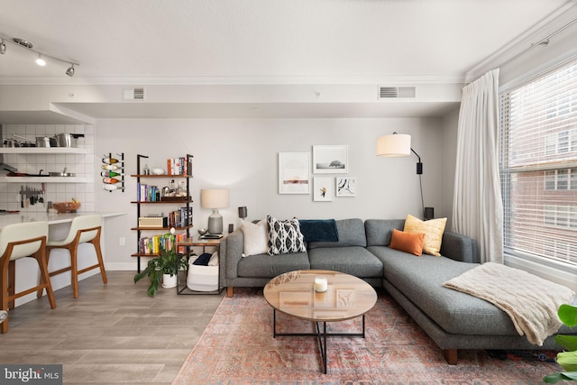
[[[577,325],[577,307],[563,304],[557,314],[564,325]],[[543,380],[552,384],[562,380],[577,381],[577,335],[555,335],[555,342],[567,349],[566,352],[557,353],[556,359],[565,371],[549,374]]]

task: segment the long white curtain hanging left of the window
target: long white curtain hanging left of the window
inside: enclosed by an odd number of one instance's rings
[[[476,239],[481,262],[503,262],[499,180],[499,69],[463,87],[452,231]]]

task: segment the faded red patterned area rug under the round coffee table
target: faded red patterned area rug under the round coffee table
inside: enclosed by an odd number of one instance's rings
[[[379,297],[366,316],[366,338],[329,338],[328,373],[323,374],[315,337],[273,338],[272,308],[262,290],[234,289],[234,298],[223,299],[173,383],[537,384],[559,370],[531,354],[502,360],[484,351],[460,351],[459,363],[448,365],[394,299],[383,292]],[[342,332],[362,327],[360,318],[327,325]],[[313,326],[277,313],[277,329],[310,333]]]

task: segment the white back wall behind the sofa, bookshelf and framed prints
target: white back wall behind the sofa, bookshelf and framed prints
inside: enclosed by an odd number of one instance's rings
[[[111,119],[96,122],[95,153],[124,152],[126,173],[135,174],[136,154],[150,156],[150,167],[166,168],[166,160],[194,155],[191,179],[195,228],[206,227],[209,210],[200,207],[201,188],[229,188],[230,206],[220,210],[224,228],[238,225],[237,207],[248,207],[248,219],[279,218],[404,218],[422,216],[417,157],[378,158],[378,136],[412,135],[412,147],[424,164],[425,206],[435,216],[450,216],[444,205],[444,152],[447,138],[438,118],[389,119]],[[314,202],[311,195],[279,195],[279,151],[309,151],[315,144],[347,144],[348,176],[356,177],[356,197]],[[95,166],[96,169],[99,165]],[[315,174],[311,174],[314,177]],[[326,174],[322,174],[326,176]],[[168,184],[166,181],[160,182]],[[160,187],[163,185],[160,185]],[[452,189],[452,186],[451,186]],[[127,177],[126,191],[106,192],[96,183],[96,209],[126,211],[106,229],[106,267],[134,270],[136,249],[136,180]],[[156,205],[147,210],[164,210]],[[126,245],[119,239],[124,237]]]

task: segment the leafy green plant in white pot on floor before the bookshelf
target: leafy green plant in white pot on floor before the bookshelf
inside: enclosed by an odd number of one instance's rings
[[[165,276],[169,277],[166,280],[171,278],[174,283],[165,283],[163,287],[174,288],[176,280],[178,280],[179,270],[187,267],[187,261],[177,252],[174,233],[175,229],[171,228],[169,234],[163,235],[164,242],[160,245],[159,256],[148,261],[146,269],[134,275],[134,283],[144,277],[148,277],[151,280],[151,285],[148,287],[149,297],[156,295],[160,282]]]

